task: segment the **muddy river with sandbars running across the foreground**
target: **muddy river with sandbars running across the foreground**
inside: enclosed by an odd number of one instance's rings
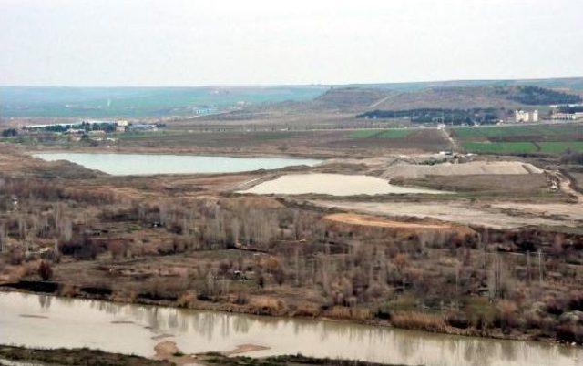
[[[0,343],[90,347],[152,356],[160,341],[181,351],[268,347],[249,356],[302,354],[407,365],[580,365],[583,349],[499,341],[345,322],[114,304],[0,292]]]

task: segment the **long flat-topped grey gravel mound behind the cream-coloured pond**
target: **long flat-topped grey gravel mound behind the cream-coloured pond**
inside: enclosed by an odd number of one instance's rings
[[[396,164],[384,173],[388,178],[424,178],[426,176],[471,176],[480,174],[517,175],[541,174],[539,168],[519,161],[472,161],[462,164]]]

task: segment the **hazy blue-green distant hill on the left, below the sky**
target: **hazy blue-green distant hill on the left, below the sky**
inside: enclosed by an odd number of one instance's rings
[[[312,100],[326,89],[327,86],[0,86],[0,117],[191,116],[198,109],[222,111]]]

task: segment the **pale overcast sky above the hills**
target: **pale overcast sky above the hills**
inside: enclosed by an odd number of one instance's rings
[[[583,76],[582,0],[0,0],[0,84]]]

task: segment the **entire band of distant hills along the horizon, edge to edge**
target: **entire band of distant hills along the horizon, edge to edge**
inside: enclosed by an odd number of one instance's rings
[[[583,95],[583,77],[350,86],[0,86],[0,117],[165,117],[240,109],[250,113],[363,113],[375,109],[516,108],[565,97],[537,88]]]

